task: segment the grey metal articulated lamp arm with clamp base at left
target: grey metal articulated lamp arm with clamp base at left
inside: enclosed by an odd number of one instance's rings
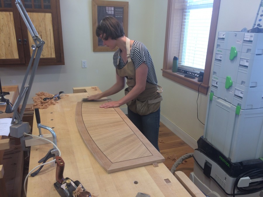
[[[23,18],[23,20],[27,26],[27,29],[30,32],[32,39],[34,40],[34,43],[35,43],[31,46],[31,48],[33,49],[31,59],[29,61],[29,64],[28,64],[28,67],[27,67],[27,70],[25,73],[25,78],[23,80],[20,93],[19,93],[18,98],[16,99],[16,101],[12,107],[12,110],[11,110],[11,112],[14,112],[14,114],[13,114],[13,118],[12,118],[11,126],[10,126],[10,135],[12,137],[21,138],[21,137],[23,137],[23,133],[29,133],[31,130],[29,123],[23,122],[22,117],[23,117],[23,114],[25,112],[27,100],[28,100],[29,93],[30,93],[30,90],[32,87],[32,83],[34,81],[34,76],[35,76],[35,73],[37,70],[40,55],[41,55],[41,52],[42,52],[42,49],[43,49],[45,42],[39,37],[34,25],[32,24],[29,16],[27,15],[27,12],[26,12],[21,0],[15,0],[15,5],[17,6],[18,11],[19,11],[21,17]],[[33,65],[32,65],[32,63],[33,63]],[[32,71],[31,71],[31,75],[30,75],[30,80],[29,80],[28,85],[25,85],[25,83],[27,81],[28,74],[31,70],[31,66],[32,66]],[[18,107],[19,107],[20,103],[22,102],[22,100],[23,100],[23,103],[22,103],[22,107],[21,107],[20,113],[19,113]],[[7,109],[7,111],[10,112],[10,107],[9,107],[9,109]],[[22,141],[22,139],[21,139],[21,141]]]

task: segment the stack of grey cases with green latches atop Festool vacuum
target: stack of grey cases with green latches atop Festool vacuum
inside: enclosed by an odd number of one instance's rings
[[[263,34],[219,32],[204,136],[190,175],[210,197],[233,196],[233,190],[259,195],[239,191],[235,182],[244,168],[263,169],[262,75]],[[241,180],[239,187],[246,184]]]

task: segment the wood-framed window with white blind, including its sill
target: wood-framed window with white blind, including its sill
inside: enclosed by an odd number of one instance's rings
[[[203,83],[199,90],[207,94],[220,0],[214,0],[214,3],[211,0],[203,0],[203,5],[196,4],[200,0],[185,1],[168,0],[162,76],[198,90],[200,82],[197,78],[189,79],[172,72],[173,57],[179,56],[180,72],[198,76],[200,71],[204,71]],[[203,15],[200,12],[208,14]]]

